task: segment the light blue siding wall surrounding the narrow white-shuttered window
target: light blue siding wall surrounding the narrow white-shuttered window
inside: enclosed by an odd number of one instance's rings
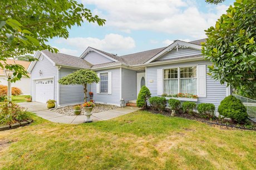
[[[96,73],[107,73],[110,71],[112,72],[112,93],[97,94],[96,83],[93,83],[91,86],[91,91],[93,92],[93,100],[96,103],[98,102],[120,106],[120,68],[96,71]],[[90,88],[88,90],[90,90]]]

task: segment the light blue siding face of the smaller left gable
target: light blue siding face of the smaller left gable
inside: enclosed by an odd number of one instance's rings
[[[112,62],[111,59],[108,59],[95,51],[90,51],[90,53],[87,54],[84,59],[93,65]]]

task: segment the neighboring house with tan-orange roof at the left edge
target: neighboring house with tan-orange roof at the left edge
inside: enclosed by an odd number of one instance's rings
[[[1,63],[4,64],[3,61],[1,61]],[[20,61],[20,60],[12,60],[12,59],[7,59],[6,63],[22,65],[25,68],[25,70],[28,69],[28,66],[30,64],[30,62],[28,62],[28,61]],[[6,75],[4,74],[4,71],[2,69],[0,69],[0,84],[6,85],[6,86],[8,84]],[[22,76],[21,80],[16,81],[16,83],[12,83],[12,87],[18,87],[19,89],[21,89],[22,94],[30,95],[30,90],[31,90],[30,78],[28,78],[26,76]]]

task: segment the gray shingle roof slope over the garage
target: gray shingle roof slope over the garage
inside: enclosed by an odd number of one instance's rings
[[[72,66],[75,68],[90,69],[92,64],[88,63],[77,56],[62,54],[62,53],[51,53],[48,50],[43,50],[48,58],[50,58],[56,65]]]

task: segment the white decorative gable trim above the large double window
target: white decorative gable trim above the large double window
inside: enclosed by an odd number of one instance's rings
[[[156,54],[153,58],[146,61],[145,64],[151,63],[155,59],[159,58],[160,56],[164,55],[165,53],[168,53],[170,50],[172,50],[173,48],[175,48],[177,46],[180,46],[180,47],[183,47],[183,48],[185,47],[185,48],[194,48],[194,49],[201,50],[201,45],[196,45],[196,44],[191,44],[191,43],[188,43],[188,42],[183,42],[181,40],[176,40],[171,45],[166,47],[164,50],[160,51],[160,53]]]

